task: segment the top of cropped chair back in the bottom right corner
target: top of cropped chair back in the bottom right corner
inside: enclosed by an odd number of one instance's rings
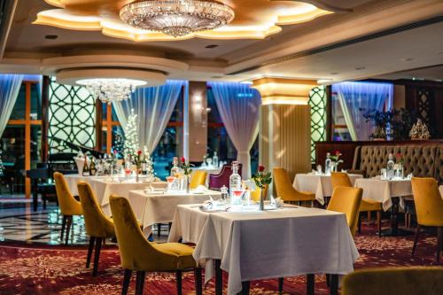
[[[354,271],[342,281],[341,295],[443,294],[443,268],[372,268]]]

